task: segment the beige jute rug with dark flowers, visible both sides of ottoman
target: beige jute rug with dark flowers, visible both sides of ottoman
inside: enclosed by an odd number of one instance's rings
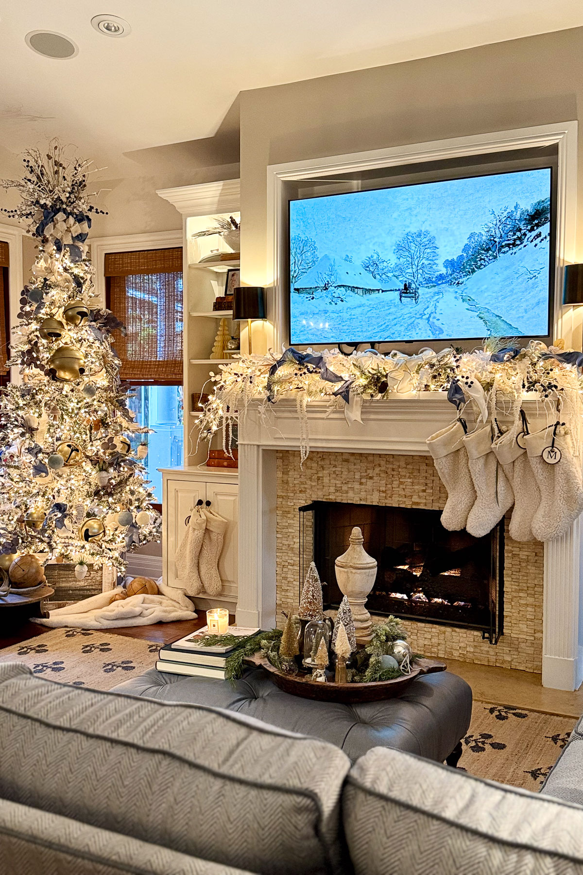
[[[110,690],[151,669],[159,644],[85,629],[52,629],[0,650],[35,675]],[[475,702],[460,767],[489,781],[537,791],[566,745],[575,720],[508,705]]]

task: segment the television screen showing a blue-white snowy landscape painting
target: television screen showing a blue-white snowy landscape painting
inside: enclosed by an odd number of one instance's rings
[[[548,333],[551,170],[289,203],[292,344]]]

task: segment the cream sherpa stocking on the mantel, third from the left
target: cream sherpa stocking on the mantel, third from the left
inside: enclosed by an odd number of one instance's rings
[[[492,449],[514,493],[510,537],[513,541],[532,541],[532,518],[538,511],[540,492],[526,451],[517,444],[516,429],[506,431]]]

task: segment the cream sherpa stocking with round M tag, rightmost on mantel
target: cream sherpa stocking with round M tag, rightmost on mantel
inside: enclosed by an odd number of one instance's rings
[[[543,458],[546,447],[552,446],[554,424],[524,437],[532,472],[540,490],[540,504],[532,520],[532,533],[539,541],[552,541],[565,535],[583,511],[583,481],[579,456],[573,451],[569,435],[557,434],[555,450],[560,459],[549,465]]]

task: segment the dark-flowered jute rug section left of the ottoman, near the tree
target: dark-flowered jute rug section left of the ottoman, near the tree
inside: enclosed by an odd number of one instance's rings
[[[39,677],[110,690],[152,669],[159,644],[87,629],[52,629],[0,650],[0,662],[24,662]]]

